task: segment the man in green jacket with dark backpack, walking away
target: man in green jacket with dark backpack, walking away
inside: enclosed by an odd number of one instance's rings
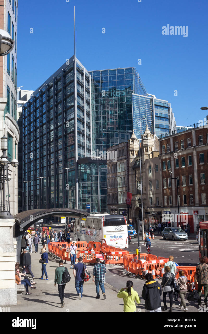
[[[56,283],[58,284],[58,295],[61,300],[61,307],[64,307],[64,289],[66,283],[70,281],[70,275],[68,269],[63,266],[63,260],[58,261],[59,267],[55,270],[55,279],[54,279],[54,287],[56,287]]]

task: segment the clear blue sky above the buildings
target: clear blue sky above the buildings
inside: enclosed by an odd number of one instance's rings
[[[208,115],[200,110],[208,106],[207,0],[19,0],[18,87],[35,90],[73,55],[74,5],[76,56],[88,70],[136,67],[148,93],[171,103],[177,125]],[[188,26],[188,36],[163,35],[168,24]]]

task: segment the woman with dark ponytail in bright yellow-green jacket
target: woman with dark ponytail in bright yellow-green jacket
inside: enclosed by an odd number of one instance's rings
[[[127,287],[122,288],[117,297],[123,298],[124,300],[124,312],[136,312],[135,300],[137,304],[140,304],[140,297],[138,293],[134,291],[132,281],[127,281]]]

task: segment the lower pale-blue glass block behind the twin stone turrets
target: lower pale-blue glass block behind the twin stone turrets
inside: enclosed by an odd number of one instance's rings
[[[151,133],[162,134],[176,130],[176,121],[168,101],[156,99],[154,95],[132,94],[133,128],[137,138],[145,132],[146,125]]]

